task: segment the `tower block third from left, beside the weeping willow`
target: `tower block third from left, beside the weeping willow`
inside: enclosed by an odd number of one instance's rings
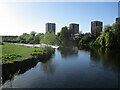
[[[91,22],[91,35],[99,36],[102,32],[103,23],[100,21],[92,21]]]

